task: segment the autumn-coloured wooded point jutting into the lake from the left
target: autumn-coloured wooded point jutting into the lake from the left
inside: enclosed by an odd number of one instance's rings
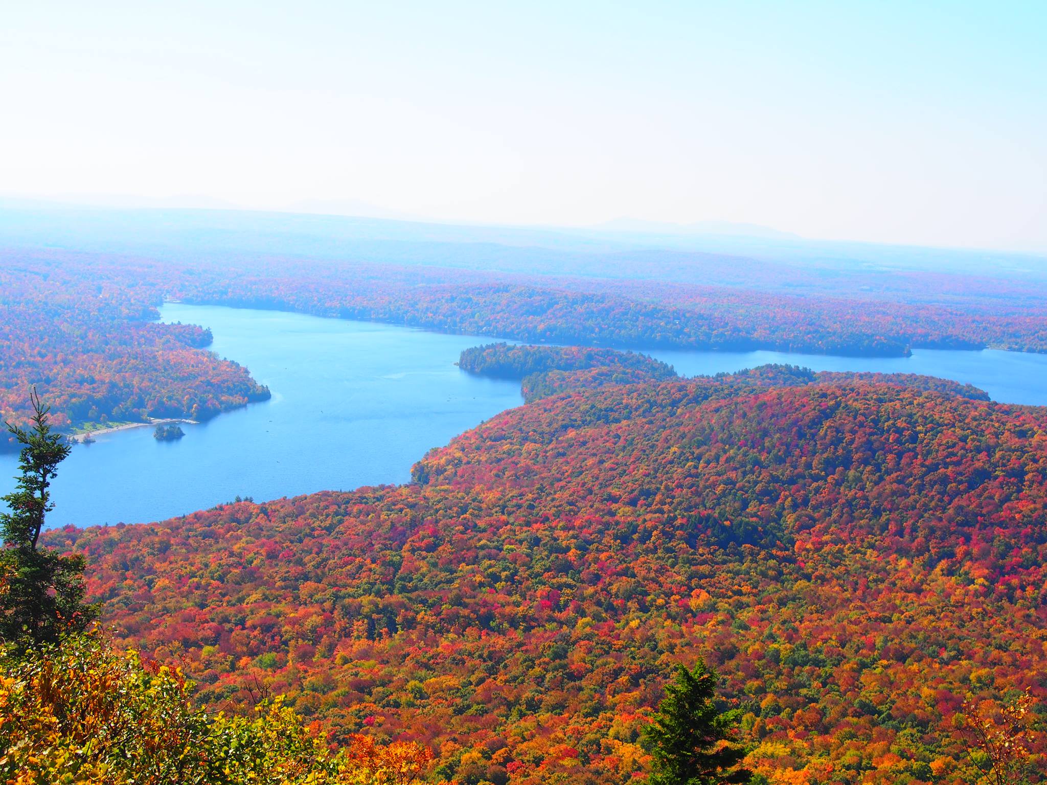
[[[204,350],[210,332],[162,324],[159,290],[60,267],[0,264],[0,420],[26,423],[36,386],[57,427],[148,417],[206,419],[269,397],[247,369]],[[4,436],[0,448],[13,443]]]

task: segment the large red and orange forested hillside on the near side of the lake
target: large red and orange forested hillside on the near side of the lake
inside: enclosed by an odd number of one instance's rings
[[[698,655],[765,782],[958,785],[965,699],[1029,689],[1044,712],[1044,409],[611,385],[497,416],[415,475],[49,541],[203,700],[258,678],[336,738],[430,746],[455,782],[629,781]]]

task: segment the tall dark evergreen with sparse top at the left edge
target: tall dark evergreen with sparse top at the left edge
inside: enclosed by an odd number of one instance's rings
[[[84,604],[84,558],[39,546],[45,516],[54,507],[51,480],[69,445],[51,430],[50,407],[36,389],[31,401],[28,430],[6,424],[22,451],[18,488],[3,496],[8,512],[0,514],[0,641],[20,647],[83,630],[96,615],[93,606]]]

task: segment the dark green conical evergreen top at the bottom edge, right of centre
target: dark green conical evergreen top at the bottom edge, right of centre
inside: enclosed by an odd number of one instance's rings
[[[690,671],[680,666],[675,682],[666,686],[666,697],[643,738],[653,758],[651,785],[721,785],[752,779],[752,772],[738,765],[744,747],[732,740],[741,711],[716,708],[718,683],[716,671],[699,659]]]

